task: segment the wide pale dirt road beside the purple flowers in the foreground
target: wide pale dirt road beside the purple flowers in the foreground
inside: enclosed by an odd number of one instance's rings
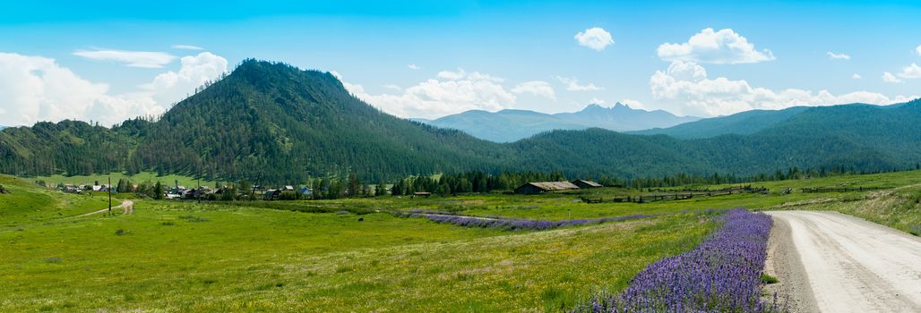
[[[921,312],[921,238],[835,212],[766,213],[769,288],[791,310]]]

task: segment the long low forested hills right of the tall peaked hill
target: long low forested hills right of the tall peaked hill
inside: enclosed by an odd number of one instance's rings
[[[518,167],[618,177],[677,172],[770,173],[781,168],[892,170],[921,162],[921,99],[892,105],[794,108],[750,134],[698,139],[600,129],[558,131],[512,144]],[[540,151],[540,153],[535,153]],[[553,157],[561,156],[561,157]]]

